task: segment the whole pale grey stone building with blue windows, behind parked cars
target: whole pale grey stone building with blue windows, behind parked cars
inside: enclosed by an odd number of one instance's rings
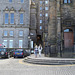
[[[30,0],[0,0],[0,44],[28,48]]]

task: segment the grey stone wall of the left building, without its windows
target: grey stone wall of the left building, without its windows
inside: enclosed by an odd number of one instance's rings
[[[5,24],[5,13],[9,15],[9,23]],[[10,24],[10,13],[14,13],[14,24]],[[23,24],[20,24],[20,13],[23,13]],[[19,48],[19,40],[23,40],[22,48],[28,48],[28,35],[30,26],[30,0],[0,0],[0,44],[3,40],[7,40],[7,47],[9,48],[9,40],[13,40],[13,48]],[[5,37],[3,31],[8,31]],[[9,36],[9,31],[14,32],[13,36]],[[19,31],[23,31],[23,36],[19,36]]]

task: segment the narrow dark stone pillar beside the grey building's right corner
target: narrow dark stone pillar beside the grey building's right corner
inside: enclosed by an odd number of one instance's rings
[[[31,1],[30,6],[30,37],[36,43],[36,5]]]

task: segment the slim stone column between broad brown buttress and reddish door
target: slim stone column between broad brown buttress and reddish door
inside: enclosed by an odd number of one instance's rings
[[[61,57],[61,17],[60,17],[60,0],[57,0],[57,50],[58,50],[58,57]]]

